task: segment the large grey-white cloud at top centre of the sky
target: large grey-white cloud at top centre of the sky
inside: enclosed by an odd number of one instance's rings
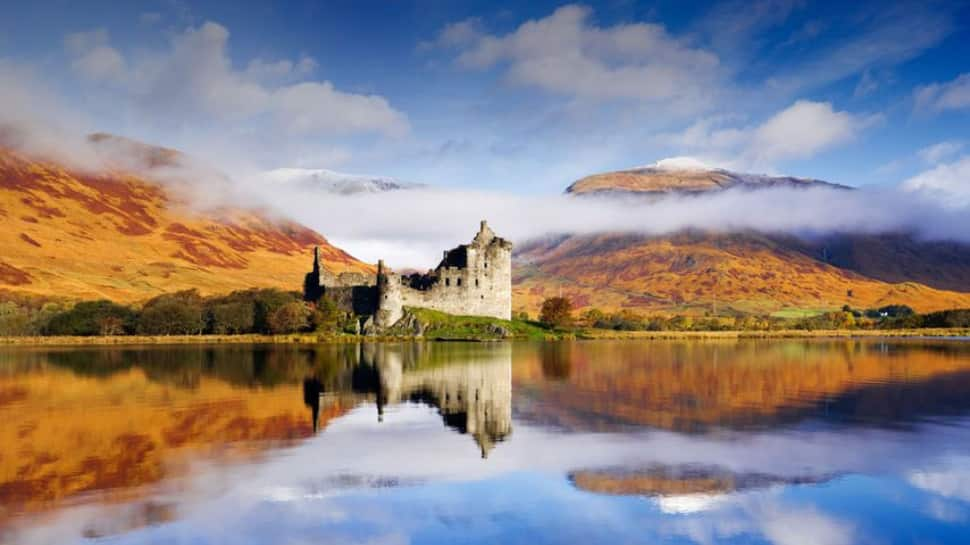
[[[516,85],[592,99],[703,101],[718,58],[692,48],[659,24],[598,27],[588,7],[568,5],[498,36],[446,27],[439,41],[460,49],[470,69],[505,68]]]

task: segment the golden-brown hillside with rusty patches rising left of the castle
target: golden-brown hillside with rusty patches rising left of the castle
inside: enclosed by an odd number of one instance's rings
[[[142,159],[152,166],[172,153]],[[188,288],[300,289],[314,245],[332,270],[372,270],[296,223],[203,211],[178,193],[120,169],[82,173],[0,148],[0,289],[116,301]]]

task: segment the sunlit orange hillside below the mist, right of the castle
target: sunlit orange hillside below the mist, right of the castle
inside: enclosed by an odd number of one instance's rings
[[[917,263],[918,257],[912,256],[920,252],[930,255],[916,242],[909,250],[905,257],[909,263]],[[561,291],[580,308],[671,313],[710,311],[715,301],[720,311],[751,313],[846,304],[853,308],[906,304],[922,312],[970,306],[970,293],[907,281],[900,263],[887,263],[891,268],[881,280],[875,271],[867,271],[869,276],[838,267],[813,251],[798,241],[755,233],[561,237],[517,249],[514,304],[535,312],[544,298]],[[970,251],[964,250],[964,255]],[[874,258],[868,259],[866,263]],[[970,289],[970,267],[939,258],[935,263],[938,274],[949,275],[949,286],[959,285],[962,279]],[[917,278],[933,280],[925,274]]]

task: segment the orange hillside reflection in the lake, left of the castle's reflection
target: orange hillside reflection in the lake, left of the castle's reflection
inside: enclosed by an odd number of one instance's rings
[[[16,453],[0,457],[0,527],[67,498],[135,495],[187,460],[251,459],[309,437],[299,383],[252,386],[259,366],[230,371],[236,355],[208,372],[205,350],[0,351],[0,443]]]

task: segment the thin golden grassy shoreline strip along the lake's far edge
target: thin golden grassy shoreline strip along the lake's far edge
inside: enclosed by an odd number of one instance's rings
[[[970,328],[860,329],[777,331],[613,331],[579,330],[550,333],[548,340],[717,340],[717,339],[852,339],[852,338],[970,337]],[[318,335],[120,335],[109,337],[0,337],[0,346],[131,346],[192,344],[347,344],[375,342],[495,342],[509,339],[424,338],[407,336]]]

